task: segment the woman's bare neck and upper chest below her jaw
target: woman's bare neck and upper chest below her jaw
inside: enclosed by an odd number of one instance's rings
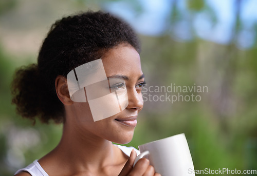
[[[127,159],[119,148],[111,141],[101,139],[90,132],[86,133],[85,130],[83,132],[81,134],[79,129],[64,124],[59,145],[39,160],[49,175],[57,175],[56,170],[61,170],[59,175],[98,175],[99,171],[106,171],[104,168],[123,167]]]

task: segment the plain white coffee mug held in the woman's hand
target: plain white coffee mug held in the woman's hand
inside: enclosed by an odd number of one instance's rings
[[[194,176],[194,165],[184,133],[138,146],[140,154],[134,162],[146,158],[162,176]]]

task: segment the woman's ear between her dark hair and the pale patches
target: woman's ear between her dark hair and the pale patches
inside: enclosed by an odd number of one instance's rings
[[[56,77],[56,93],[57,93],[59,100],[64,105],[73,104],[73,102],[71,101],[70,96],[69,96],[67,79],[63,75],[58,75]]]

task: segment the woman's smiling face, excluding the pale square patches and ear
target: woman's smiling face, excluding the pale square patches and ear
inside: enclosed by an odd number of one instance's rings
[[[106,119],[94,122],[88,103],[74,102],[72,115],[66,123],[86,138],[103,138],[119,144],[126,144],[133,138],[137,116],[143,108],[142,86],[144,75],[141,70],[140,56],[130,45],[120,45],[109,50],[102,57],[107,78],[118,78],[125,82],[128,105],[121,112]]]

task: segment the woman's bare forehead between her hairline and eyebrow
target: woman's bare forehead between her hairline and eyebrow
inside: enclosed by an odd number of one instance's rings
[[[132,46],[119,46],[102,57],[106,76],[114,74],[142,74],[140,55]]]

